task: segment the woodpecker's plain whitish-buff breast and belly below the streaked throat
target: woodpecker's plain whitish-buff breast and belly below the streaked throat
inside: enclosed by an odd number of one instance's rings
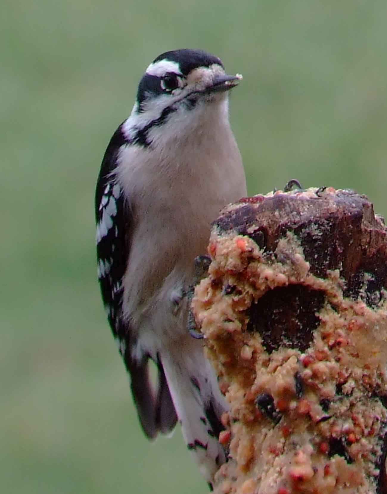
[[[213,110],[184,137],[181,127],[176,135],[156,127],[154,148],[122,150],[117,178],[133,215],[123,307],[138,332],[170,338],[186,330],[185,318],[171,313],[172,291],[192,282],[220,209],[246,195],[227,100]]]

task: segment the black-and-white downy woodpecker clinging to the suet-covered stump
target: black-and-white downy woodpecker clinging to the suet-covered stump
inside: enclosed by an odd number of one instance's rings
[[[187,329],[185,294],[211,222],[246,195],[228,107],[240,79],[201,50],[159,55],[108,145],[95,199],[102,298],[141,425],[153,439],[179,420],[208,482],[225,461],[227,403],[202,340]]]

